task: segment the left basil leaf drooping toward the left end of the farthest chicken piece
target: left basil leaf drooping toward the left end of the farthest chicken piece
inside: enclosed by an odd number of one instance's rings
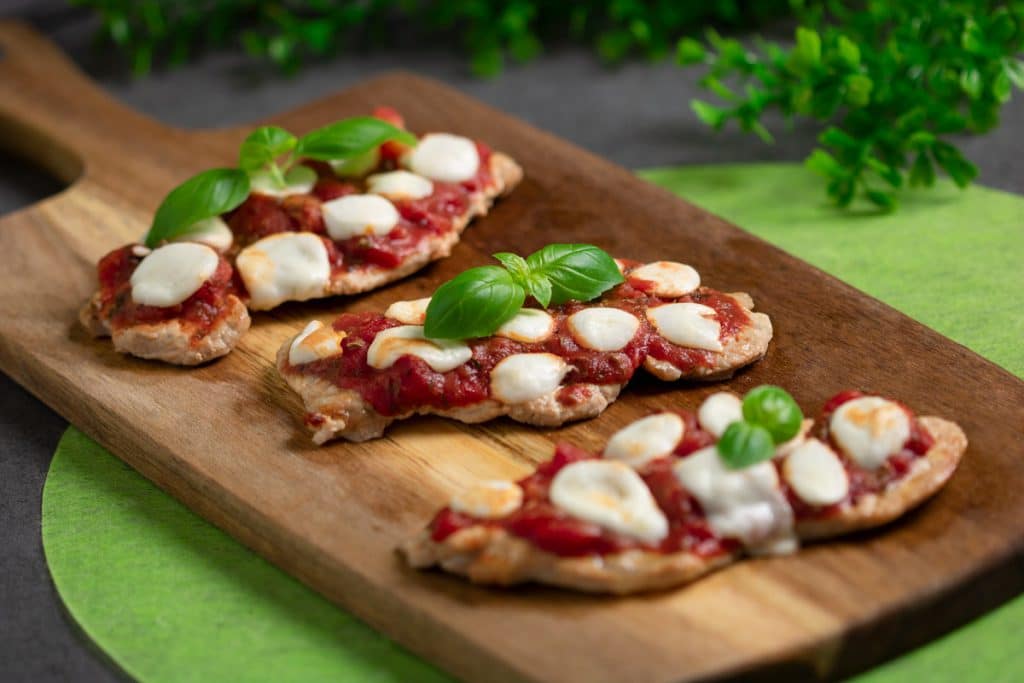
[[[215,168],[195,175],[164,199],[144,243],[151,249],[179,239],[204,218],[234,209],[249,197],[249,176],[237,168]]]

